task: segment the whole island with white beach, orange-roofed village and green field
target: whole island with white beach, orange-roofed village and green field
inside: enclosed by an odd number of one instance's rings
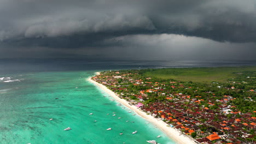
[[[256,141],[256,67],[110,70],[90,81],[178,143]]]

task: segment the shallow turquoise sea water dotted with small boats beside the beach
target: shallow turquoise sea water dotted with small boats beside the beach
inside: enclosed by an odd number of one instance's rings
[[[0,80],[0,143],[174,143],[88,82],[94,72],[0,75],[5,77]],[[8,80],[17,81],[4,82]],[[72,130],[64,131],[67,127]],[[131,134],[135,130],[137,134]]]

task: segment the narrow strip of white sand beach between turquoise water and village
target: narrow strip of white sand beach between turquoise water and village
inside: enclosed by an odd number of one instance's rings
[[[97,75],[100,73],[96,73]],[[117,100],[119,103],[123,104],[126,107],[129,107],[129,109],[135,111],[139,116],[147,119],[147,121],[152,122],[156,127],[158,127],[160,130],[164,131],[164,133],[169,136],[172,140],[174,140],[177,143],[181,143],[181,144],[189,144],[189,143],[195,143],[193,140],[189,139],[188,136],[185,135],[180,135],[179,131],[177,129],[171,128],[171,127],[167,127],[168,124],[166,124],[165,122],[154,118],[151,115],[147,115],[147,113],[139,110],[135,105],[130,105],[128,103],[128,101],[126,101],[125,99],[121,99],[119,98],[117,95],[115,95],[114,92],[110,91],[110,89],[108,89],[106,86],[97,83],[96,81],[91,80],[90,78],[88,79],[88,81],[94,83],[96,86],[102,88],[104,91],[106,91],[109,95],[111,95],[115,100]]]

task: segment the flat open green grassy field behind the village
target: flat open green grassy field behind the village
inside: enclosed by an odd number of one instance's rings
[[[144,71],[143,75],[160,79],[210,83],[226,82],[228,79],[241,75],[244,71],[256,71],[256,66],[149,69]]]

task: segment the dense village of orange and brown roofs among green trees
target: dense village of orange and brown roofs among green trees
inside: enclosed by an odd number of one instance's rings
[[[143,77],[138,70],[106,71],[92,79],[196,143],[255,143],[255,105],[251,110],[238,109],[236,102],[244,94],[251,96],[245,101],[255,104],[254,89],[236,88],[245,81],[234,80],[236,86],[182,83]]]

